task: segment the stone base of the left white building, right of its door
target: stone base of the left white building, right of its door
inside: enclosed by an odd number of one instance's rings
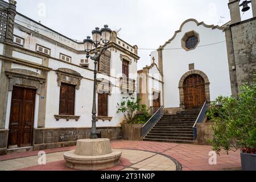
[[[77,140],[90,138],[90,131],[90,128],[35,129],[34,150],[75,146]],[[121,127],[99,127],[97,132],[101,138],[122,138]]]

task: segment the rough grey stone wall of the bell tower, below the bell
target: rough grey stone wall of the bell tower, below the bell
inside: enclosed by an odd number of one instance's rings
[[[245,82],[253,82],[256,73],[256,17],[230,25],[226,30],[232,93],[236,96],[236,87]],[[229,42],[233,42],[229,44]],[[232,55],[233,52],[233,55]],[[231,53],[231,54],[230,54]],[[234,75],[234,72],[236,73]]]

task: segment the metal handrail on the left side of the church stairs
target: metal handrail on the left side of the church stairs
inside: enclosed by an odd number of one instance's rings
[[[159,114],[159,115],[158,115]],[[159,121],[160,118],[162,118],[164,114],[163,106],[160,106],[158,111],[148,121],[142,126],[142,138],[144,138],[147,133],[152,129],[152,127],[155,126],[155,123]]]

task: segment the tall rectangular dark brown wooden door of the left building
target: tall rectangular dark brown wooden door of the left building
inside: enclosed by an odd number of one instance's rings
[[[35,90],[14,86],[11,98],[9,146],[32,146]]]

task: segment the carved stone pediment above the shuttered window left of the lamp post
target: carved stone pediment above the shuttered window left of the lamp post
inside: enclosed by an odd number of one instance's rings
[[[61,85],[61,82],[71,85],[76,85],[76,89],[80,89],[82,76],[79,72],[73,71],[72,69],[68,68],[59,68],[56,70],[57,82],[58,86]]]

